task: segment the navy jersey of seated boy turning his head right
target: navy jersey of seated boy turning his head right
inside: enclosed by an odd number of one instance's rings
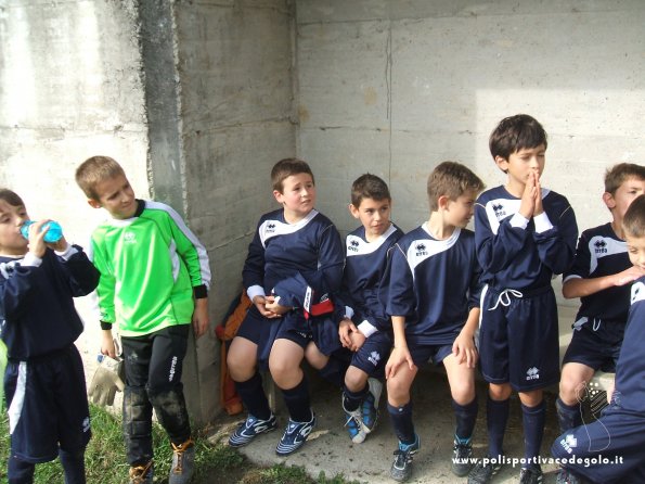
[[[388,265],[386,311],[405,317],[409,344],[452,344],[468,313],[479,307],[475,235],[455,228],[436,240],[427,222],[399,239]]]

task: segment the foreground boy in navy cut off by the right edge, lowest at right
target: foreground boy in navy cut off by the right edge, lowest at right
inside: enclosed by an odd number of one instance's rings
[[[645,195],[622,220],[631,263],[645,271]],[[590,424],[568,430],[551,453],[569,473],[594,483],[645,482],[645,276],[631,285],[631,306],[609,406]]]

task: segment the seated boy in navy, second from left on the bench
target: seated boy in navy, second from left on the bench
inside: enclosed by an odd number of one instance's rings
[[[352,352],[343,387],[345,426],[351,441],[360,444],[378,419],[379,379],[392,346],[380,296],[387,259],[403,232],[390,221],[389,189],[376,175],[354,180],[349,212],[361,227],[346,238],[338,334],[343,346]]]

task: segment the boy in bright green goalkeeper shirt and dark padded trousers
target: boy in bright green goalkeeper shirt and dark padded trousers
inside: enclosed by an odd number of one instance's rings
[[[136,199],[113,158],[86,160],[76,170],[76,182],[91,207],[111,215],[94,229],[91,250],[101,272],[101,353],[116,356],[113,324],[121,336],[130,483],[153,482],[153,408],[172,445],[168,482],[188,483],[195,448],[181,373],[191,322],[196,337],[208,328],[206,250],[168,205]]]

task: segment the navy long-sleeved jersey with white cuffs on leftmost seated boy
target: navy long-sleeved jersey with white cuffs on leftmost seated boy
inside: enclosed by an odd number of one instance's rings
[[[305,307],[340,289],[343,263],[343,242],[327,217],[311,211],[288,224],[278,209],[260,218],[242,279],[251,300],[273,293],[283,306]]]

